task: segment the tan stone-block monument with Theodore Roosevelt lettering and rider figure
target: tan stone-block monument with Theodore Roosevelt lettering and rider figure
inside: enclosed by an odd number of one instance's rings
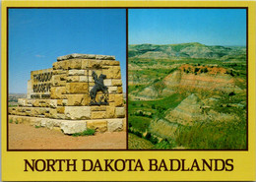
[[[52,68],[31,72],[27,98],[9,107],[9,120],[61,130],[122,131],[126,126],[119,61],[114,56],[70,54]]]

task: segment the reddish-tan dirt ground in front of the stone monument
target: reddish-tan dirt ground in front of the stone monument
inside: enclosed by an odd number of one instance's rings
[[[126,132],[106,132],[96,136],[72,137],[46,128],[9,123],[10,150],[122,150]]]

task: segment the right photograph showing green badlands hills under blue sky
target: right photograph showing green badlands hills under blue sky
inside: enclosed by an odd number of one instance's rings
[[[128,150],[248,150],[247,9],[128,10]]]

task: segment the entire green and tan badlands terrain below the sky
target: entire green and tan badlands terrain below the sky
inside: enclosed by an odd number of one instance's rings
[[[130,150],[245,150],[246,47],[129,45]]]

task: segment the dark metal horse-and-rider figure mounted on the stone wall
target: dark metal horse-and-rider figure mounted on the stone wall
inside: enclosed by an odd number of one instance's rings
[[[93,71],[92,77],[95,80],[95,86],[94,88],[90,91],[90,96],[91,96],[91,105],[100,105],[100,104],[108,104],[108,88],[104,86],[103,80],[106,78],[105,75],[100,74],[99,77],[97,78],[96,72]],[[98,102],[96,102],[96,92],[97,91],[102,91],[103,95],[100,96],[100,99]]]

